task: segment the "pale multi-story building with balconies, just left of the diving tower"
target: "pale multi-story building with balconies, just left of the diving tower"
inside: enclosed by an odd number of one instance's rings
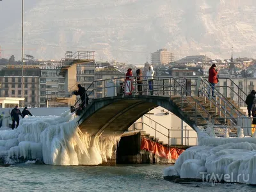
[[[65,77],[58,76],[58,67],[40,67],[40,108],[65,106],[57,97],[67,97],[64,90]],[[68,95],[69,96],[69,95]]]

